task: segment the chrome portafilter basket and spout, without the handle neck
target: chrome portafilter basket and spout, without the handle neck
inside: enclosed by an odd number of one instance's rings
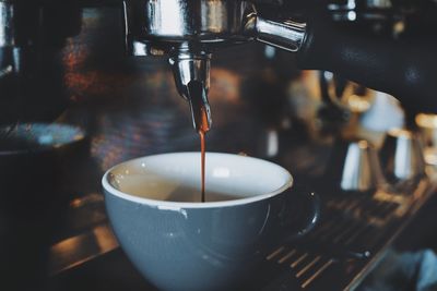
[[[192,123],[199,128],[196,104],[211,111],[208,101],[211,50],[216,44],[240,43],[243,23],[253,11],[246,1],[149,1],[125,2],[127,46],[133,56],[167,53],[170,58],[178,93],[190,102]],[[190,96],[188,84],[202,84],[200,93]],[[191,98],[199,100],[192,101]]]

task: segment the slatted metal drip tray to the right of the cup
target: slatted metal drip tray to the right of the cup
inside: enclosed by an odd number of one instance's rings
[[[422,180],[408,195],[332,193],[306,239],[268,255],[275,278],[262,290],[353,290],[432,196],[435,182]]]

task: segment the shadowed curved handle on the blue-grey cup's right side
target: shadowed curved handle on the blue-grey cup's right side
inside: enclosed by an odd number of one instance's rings
[[[290,191],[293,192],[287,201],[292,208],[290,219],[296,222],[291,226],[292,231],[288,232],[291,234],[286,241],[304,237],[316,227],[320,219],[320,197],[317,193],[297,184]]]

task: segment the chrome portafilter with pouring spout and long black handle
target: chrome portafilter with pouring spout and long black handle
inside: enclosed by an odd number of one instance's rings
[[[397,43],[390,37],[381,40],[359,34],[359,29],[339,29],[336,24],[342,21],[335,21],[336,12],[324,1],[305,1],[307,25],[282,17],[283,13],[294,13],[287,11],[285,2],[125,0],[128,51],[133,56],[168,56],[178,92],[191,104],[197,130],[202,120],[196,113],[200,112],[197,107],[205,109],[208,122],[211,122],[206,97],[211,53],[221,47],[250,40],[297,52],[299,69],[330,71],[363,86],[391,94],[409,109],[411,116],[424,111],[437,112],[435,35],[425,36],[425,31],[420,29],[410,35],[421,35],[421,41],[405,39]],[[298,1],[286,3],[294,2]],[[365,1],[347,1],[345,15],[361,15],[358,2]],[[397,11],[392,5],[380,5],[378,1],[367,2],[368,11],[364,8],[363,15],[374,15],[375,11],[389,14]],[[418,13],[429,10],[429,5],[417,8]],[[414,17],[403,15],[409,10],[402,9],[402,5],[398,10],[406,31],[417,26],[414,21],[406,21]],[[267,12],[269,19],[260,11]],[[358,19],[346,17],[351,22]]]

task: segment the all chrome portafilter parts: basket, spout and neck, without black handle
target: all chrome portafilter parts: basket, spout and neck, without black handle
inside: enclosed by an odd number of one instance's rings
[[[214,50],[257,39],[297,51],[305,36],[305,24],[262,19],[255,3],[244,0],[127,0],[123,9],[128,51],[168,56],[196,130],[201,123],[199,107],[211,123],[208,90]]]

